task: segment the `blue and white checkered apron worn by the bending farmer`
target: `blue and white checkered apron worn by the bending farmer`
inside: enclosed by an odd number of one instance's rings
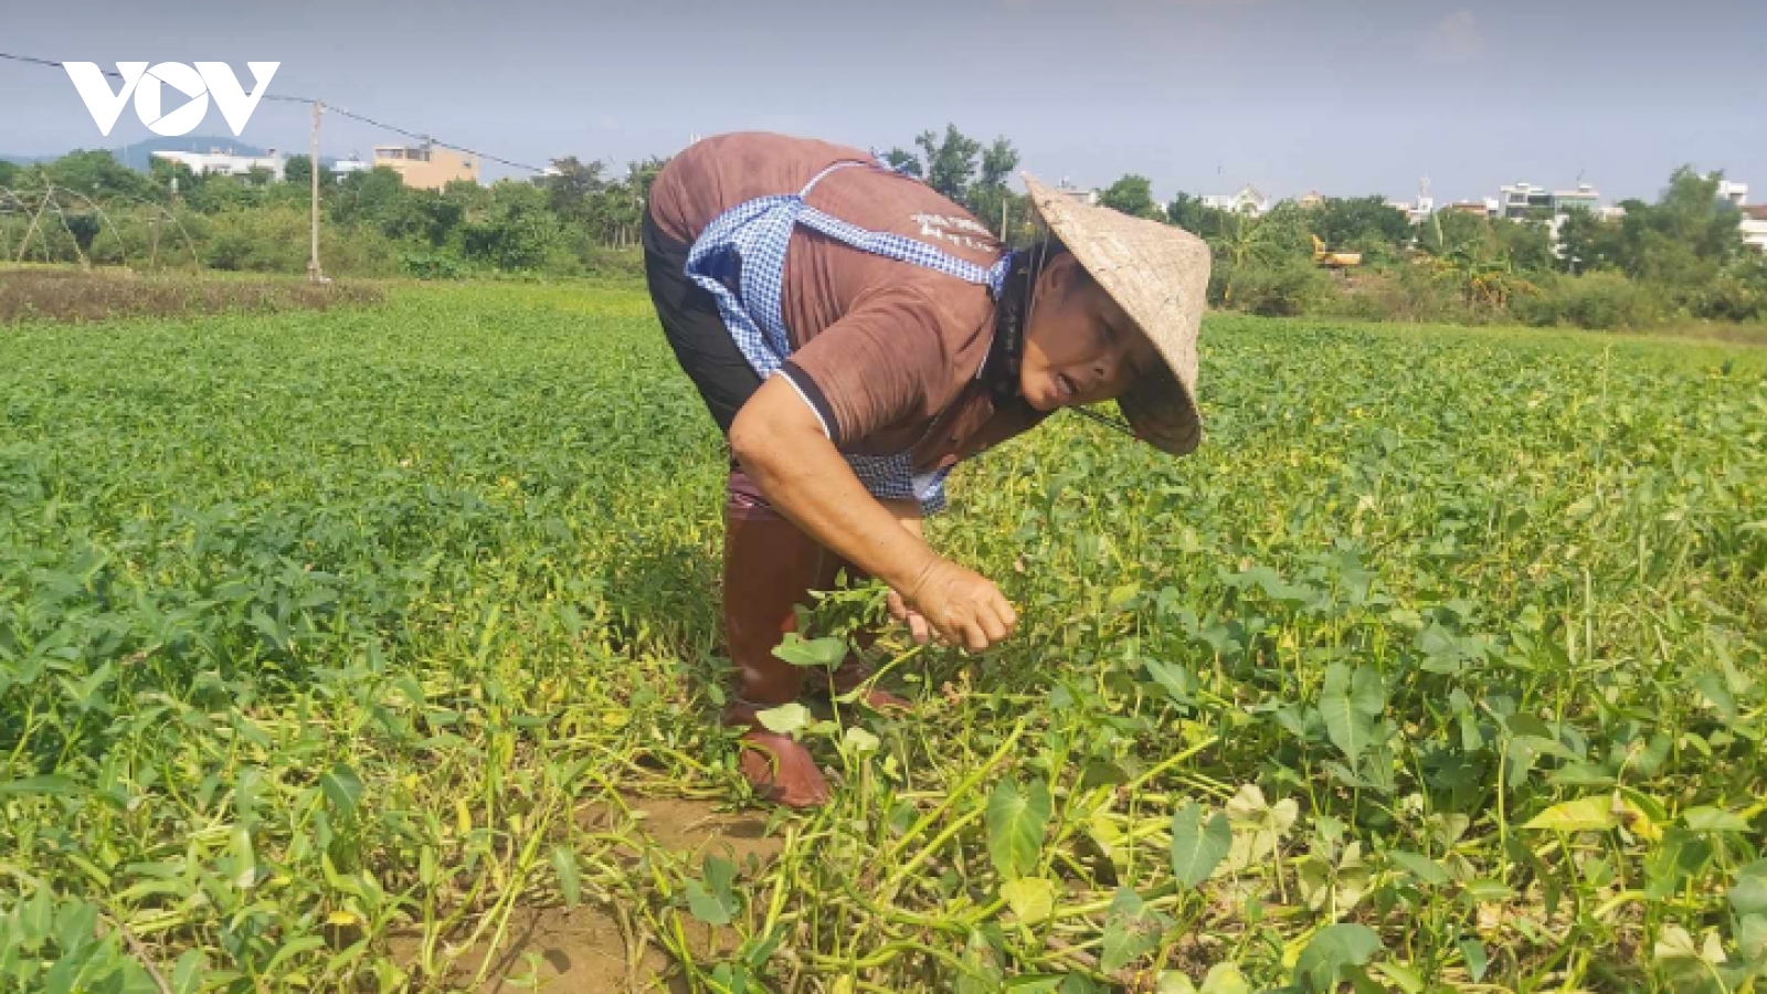
[[[687,276],[717,299],[717,313],[730,329],[737,348],[755,366],[762,378],[770,377],[792,354],[792,340],[781,317],[779,295],[785,287],[785,255],[792,232],[804,225],[861,251],[894,258],[956,276],[967,283],[988,287],[1000,297],[1012,253],[1002,253],[991,267],[977,265],[945,255],[944,251],[906,235],[869,232],[816,210],[804,202],[822,177],[848,166],[875,163],[834,163],[816,173],[799,193],[758,196],[719,214],[693,242],[687,253]],[[899,175],[899,173],[898,173]],[[735,279],[732,279],[732,276]],[[732,292],[735,283],[740,295]],[[873,497],[891,501],[919,501],[921,511],[933,515],[945,508],[945,476],[949,467],[933,472],[914,472],[908,453],[892,456],[861,456],[843,453],[853,474]]]

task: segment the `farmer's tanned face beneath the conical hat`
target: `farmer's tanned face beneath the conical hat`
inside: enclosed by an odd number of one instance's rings
[[[1037,279],[1020,391],[1037,410],[1120,396],[1159,354],[1117,301],[1064,255]]]

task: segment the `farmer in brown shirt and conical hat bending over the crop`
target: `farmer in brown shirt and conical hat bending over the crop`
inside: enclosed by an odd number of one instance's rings
[[[1207,248],[1025,182],[1050,237],[1023,251],[919,180],[823,141],[710,138],[652,187],[650,295],[733,455],[724,722],[747,727],[742,773],[767,798],[829,796],[809,752],[755,715],[804,690],[804,670],[772,651],[793,607],[839,570],[889,584],[917,642],[982,651],[1018,623],[993,582],[921,538],[952,465],[1104,400],[1166,453],[1202,439]],[[866,677],[848,658],[813,690]],[[868,704],[905,707],[880,690]]]

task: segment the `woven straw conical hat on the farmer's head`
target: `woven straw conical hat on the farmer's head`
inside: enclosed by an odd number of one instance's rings
[[[1081,203],[1025,175],[1043,223],[1152,340],[1164,375],[1145,375],[1117,398],[1141,440],[1175,456],[1202,444],[1196,333],[1209,294],[1209,246],[1196,235]]]

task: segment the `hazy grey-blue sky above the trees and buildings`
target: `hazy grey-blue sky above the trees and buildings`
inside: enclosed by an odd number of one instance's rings
[[[1578,175],[1654,196],[1691,163],[1767,200],[1763,0],[0,0],[0,51],[279,60],[272,90],[525,163],[626,163],[770,129],[908,145],[956,122],[1081,186],[1159,198],[1495,195]],[[168,103],[168,110],[170,104]],[[198,134],[226,134],[219,110]],[[113,147],[58,69],[0,60],[0,152]],[[322,154],[389,136],[327,119]],[[306,110],[242,136],[306,149]],[[495,172],[491,175],[497,175]]]

